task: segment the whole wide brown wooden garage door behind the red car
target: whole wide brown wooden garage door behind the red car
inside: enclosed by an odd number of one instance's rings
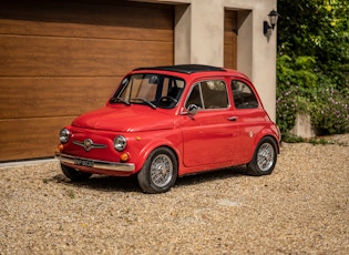
[[[0,6],[0,162],[52,156],[59,130],[104,105],[125,72],[173,64],[171,6],[92,0]]]

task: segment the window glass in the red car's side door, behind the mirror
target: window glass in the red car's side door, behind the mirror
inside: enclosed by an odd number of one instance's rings
[[[226,85],[223,81],[211,80],[196,83],[187,99],[185,106],[196,104],[202,109],[228,108]]]

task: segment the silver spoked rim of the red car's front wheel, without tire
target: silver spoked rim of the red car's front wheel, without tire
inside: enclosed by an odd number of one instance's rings
[[[173,163],[170,156],[165,154],[157,155],[151,166],[152,182],[158,186],[166,186],[173,177]]]

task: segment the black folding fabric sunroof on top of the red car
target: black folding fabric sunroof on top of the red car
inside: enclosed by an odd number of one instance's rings
[[[207,72],[207,71],[226,71],[223,68],[216,68],[205,64],[177,64],[177,65],[167,65],[167,67],[154,67],[154,68],[138,68],[136,70],[162,70],[162,71],[172,71],[181,73],[195,73],[195,72]]]

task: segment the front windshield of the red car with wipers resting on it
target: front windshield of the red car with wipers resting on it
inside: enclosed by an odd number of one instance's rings
[[[110,102],[172,109],[179,101],[184,85],[184,80],[175,76],[151,73],[132,74],[121,82]]]

